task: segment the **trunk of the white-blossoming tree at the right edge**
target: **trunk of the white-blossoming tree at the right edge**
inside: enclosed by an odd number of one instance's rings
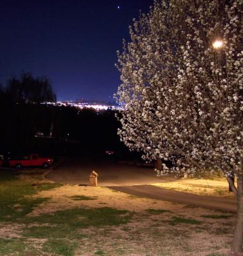
[[[239,174],[237,179],[237,216],[235,221],[235,232],[233,235],[234,256],[243,256],[243,175]]]

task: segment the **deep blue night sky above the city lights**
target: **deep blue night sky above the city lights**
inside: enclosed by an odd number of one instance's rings
[[[25,71],[49,77],[57,100],[113,100],[121,83],[116,51],[152,3],[1,0],[0,83]]]

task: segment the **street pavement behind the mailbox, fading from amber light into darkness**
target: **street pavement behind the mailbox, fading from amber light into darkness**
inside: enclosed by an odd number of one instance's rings
[[[118,164],[109,159],[73,158],[51,170],[47,179],[68,184],[89,184],[89,174],[95,170],[99,186],[144,185],[175,180],[174,177],[156,177],[152,168]]]

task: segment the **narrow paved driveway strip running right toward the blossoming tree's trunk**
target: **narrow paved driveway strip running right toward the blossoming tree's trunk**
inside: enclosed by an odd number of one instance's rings
[[[130,195],[145,196],[179,204],[195,205],[225,212],[236,212],[237,201],[229,198],[215,196],[200,196],[192,193],[179,192],[171,189],[158,188],[151,185],[143,186],[110,186],[108,188],[122,191]]]

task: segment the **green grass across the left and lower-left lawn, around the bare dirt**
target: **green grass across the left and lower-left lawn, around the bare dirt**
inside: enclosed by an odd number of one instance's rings
[[[82,228],[117,226],[128,223],[132,214],[108,207],[68,209],[54,214],[27,216],[48,198],[35,198],[39,191],[58,188],[59,183],[44,182],[33,186],[34,179],[18,179],[18,172],[1,170],[0,221],[24,225],[20,238],[0,239],[0,255],[63,255],[71,256],[80,240],[88,236]],[[72,196],[73,200],[95,200],[96,196]],[[27,239],[47,239],[42,248],[33,248]],[[78,242],[77,242],[78,241]],[[34,250],[35,253],[34,253]],[[34,253],[34,254],[33,254]],[[41,254],[42,253],[42,254]],[[103,255],[101,250],[96,255]]]

